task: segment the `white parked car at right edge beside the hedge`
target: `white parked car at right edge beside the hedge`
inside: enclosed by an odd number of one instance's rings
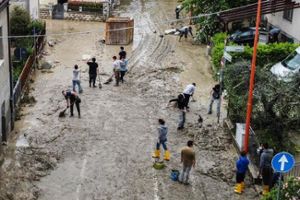
[[[279,80],[283,80],[285,82],[290,81],[290,77],[294,74],[300,73],[300,47],[298,47],[283,61],[273,65],[271,72]]]

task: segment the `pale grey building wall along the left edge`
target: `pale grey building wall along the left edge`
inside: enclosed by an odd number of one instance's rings
[[[0,0],[0,137],[3,140],[10,131],[12,80],[8,44],[8,2]]]

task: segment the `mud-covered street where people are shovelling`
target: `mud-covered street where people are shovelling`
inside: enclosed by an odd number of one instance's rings
[[[135,18],[135,40],[125,47],[130,73],[120,87],[88,87],[83,55],[96,56],[102,81],[111,74],[111,57],[118,46],[105,46],[101,23],[47,21],[48,33],[93,30],[90,34],[48,37],[47,61],[54,67],[39,70],[31,84],[35,104],[23,108],[13,138],[4,149],[0,199],[256,199],[249,186],[242,196],[233,193],[236,153],[230,137],[206,116],[214,84],[205,49],[175,36],[159,37],[174,18],[175,0],[134,0],[120,15]],[[127,12],[129,14],[124,14]],[[154,30],[156,33],[154,33]],[[72,69],[82,70],[82,117],[58,118],[65,107],[61,90],[71,87]],[[168,100],[190,82],[197,83],[196,102],[187,114],[187,129],[177,131],[178,112]],[[202,128],[198,115],[204,118]],[[171,161],[161,171],[152,168],[158,118],[169,126]],[[180,169],[180,148],[195,140],[197,164],[191,185],[173,182],[171,169]],[[16,139],[18,140],[18,139]]]

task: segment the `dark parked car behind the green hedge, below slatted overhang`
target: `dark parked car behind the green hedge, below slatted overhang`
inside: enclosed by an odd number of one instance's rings
[[[267,31],[265,28],[260,28],[260,34],[267,35]],[[230,35],[228,40],[230,42],[237,43],[239,45],[248,44],[253,46],[255,38],[255,27],[246,27],[240,30],[235,31]]]

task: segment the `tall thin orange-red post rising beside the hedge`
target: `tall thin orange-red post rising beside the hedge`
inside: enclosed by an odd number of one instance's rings
[[[250,83],[249,83],[249,95],[248,95],[248,103],[247,103],[247,116],[246,116],[246,128],[245,128],[244,151],[246,152],[248,152],[248,144],[249,144],[250,120],[251,120],[251,113],[252,113],[253,88],[254,88],[254,78],[255,78],[255,69],[256,69],[256,55],[257,55],[257,45],[259,39],[260,19],[261,19],[261,0],[258,0],[257,15],[256,15],[256,31],[255,31],[255,39],[254,39],[253,55],[252,55],[252,63],[251,63],[251,75],[250,75]]]

